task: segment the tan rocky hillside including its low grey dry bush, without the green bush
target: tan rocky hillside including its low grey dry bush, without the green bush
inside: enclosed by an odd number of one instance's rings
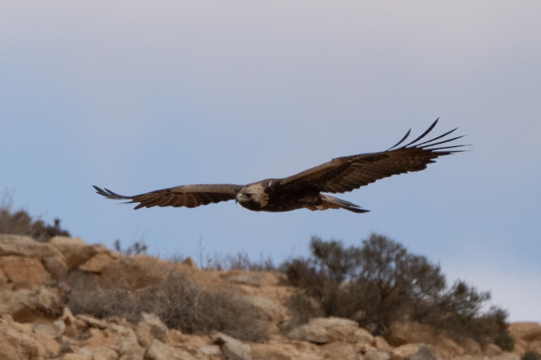
[[[199,270],[81,239],[0,234],[0,360],[519,360],[541,325],[512,324],[514,352],[456,342],[426,325],[373,336],[344,318],[303,323],[273,272]]]

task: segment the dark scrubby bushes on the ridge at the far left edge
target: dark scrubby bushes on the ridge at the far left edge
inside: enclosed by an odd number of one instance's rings
[[[12,198],[4,194],[0,204],[0,233],[28,235],[37,241],[49,241],[57,235],[69,236],[69,232],[60,226],[60,219],[54,224],[47,224],[41,219],[34,219],[25,210],[12,210]]]

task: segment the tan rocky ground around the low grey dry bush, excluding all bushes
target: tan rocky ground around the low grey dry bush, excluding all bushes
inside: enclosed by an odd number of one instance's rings
[[[243,299],[239,304],[258,317],[268,336],[248,342],[218,331],[182,333],[168,329],[151,311],[128,322],[118,316],[73,315],[70,310],[74,293],[64,281],[69,274],[87,274],[97,283],[129,284],[135,293],[171,271],[181,271],[202,288],[227,287],[237,293]],[[417,323],[395,323],[383,337],[334,317],[288,328],[286,304],[293,290],[281,284],[278,273],[199,270],[191,259],[171,263],[128,257],[76,238],[38,243],[0,234],[0,360],[519,360],[526,351],[541,354],[538,323],[511,324],[513,352],[494,344],[481,347],[472,339],[457,343]],[[96,299],[89,295],[86,300],[92,304]],[[116,300],[111,298],[111,306]]]

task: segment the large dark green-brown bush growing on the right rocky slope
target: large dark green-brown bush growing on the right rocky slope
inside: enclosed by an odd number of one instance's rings
[[[447,286],[439,265],[383,235],[372,234],[351,247],[313,237],[310,250],[310,257],[289,260],[282,269],[327,316],[357,320],[375,334],[392,322],[415,320],[455,338],[512,349],[507,313],[497,307],[481,311],[490,292],[461,280]]]

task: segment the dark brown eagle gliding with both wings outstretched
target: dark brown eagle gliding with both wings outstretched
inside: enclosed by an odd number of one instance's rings
[[[108,199],[129,200],[127,203],[138,202],[135,210],[153,206],[191,208],[208,205],[211,202],[235,200],[242,207],[252,211],[282,212],[300,208],[309,210],[342,208],[355,213],[365,213],[369,210],[326,193],[344,193],[388,176],[421,171],[428,163],[435,162],[434,159],[439,156],[463,151],[456,148],[465,145],[439,146],[462,138],[462,136],[445,138],[456,129],[419,142],[437,123],[438,119],[417,139],[405,145],[400,146],[410,135],[411,129],[398,143],[383,152],[334,158],[288,178],[266,179],[247,185],[181,185],[134,196],[119,195],[107,188],[101,189],[97,186],[94,188],[98,194]]]

